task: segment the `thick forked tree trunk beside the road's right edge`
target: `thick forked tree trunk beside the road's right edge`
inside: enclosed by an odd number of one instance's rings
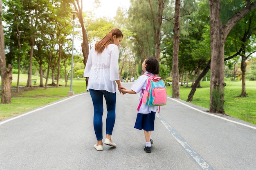
[[[224,47],[227,35],[231,29],[250,11],[256,8],[256,1],[246,0],[246,4],[231,16],[225,24],[220,18],[220,0],[209,0],[210,9],[210,35],[211,35],[211,84],[210,109],[212,113],[225,113],[225,85],[224,82]]]

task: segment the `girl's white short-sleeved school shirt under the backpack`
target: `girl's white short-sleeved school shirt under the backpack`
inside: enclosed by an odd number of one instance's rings
[[[151,76],[153,76],[152,73],[150,72],[145,72],[150,74]],[[132,90],[136,93],[140,93],[139,94],[139,102],[141,101],[142,98],[142,91],[144,92],[144,90],[146,89],[146,83],[148,80],[148,76],[147,75],[141,75],[138,77],[138,79],[134,82],[134,84],[132,85]],[[157,111],[157,106],[148,106],[144,103],[141,103],[141,106],[139,108],[138,113],[142,113],[142,114],[148,114],[151,113],[151,111],[156,112]]]

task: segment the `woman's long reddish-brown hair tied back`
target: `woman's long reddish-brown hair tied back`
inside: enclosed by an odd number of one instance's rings
[[[109,44],[114,42],[114,35],[116,38],[123,37],[123,33],[119,29],[114,28],[105,37],[103,37],[103,39],[95,44],[95,51],[97,51],[99,54],[102,53]]]

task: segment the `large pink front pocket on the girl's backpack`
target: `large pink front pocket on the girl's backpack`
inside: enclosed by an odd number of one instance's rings
[[[167,91],[164,87],[156,87],[153,89],[153,105],[166,105]]]

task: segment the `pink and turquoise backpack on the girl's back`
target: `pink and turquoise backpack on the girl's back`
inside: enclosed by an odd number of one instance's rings
[[[143,92],[143,96],[139,103],[137,110],[141,107],[142,102],[148,106],[162,106],[166,105],[167,91],[164,81],[157,75],[150,76],[150,74],[144,74],[149,76],[146,89]],[[160,107],[159,107],[160,111]]]

